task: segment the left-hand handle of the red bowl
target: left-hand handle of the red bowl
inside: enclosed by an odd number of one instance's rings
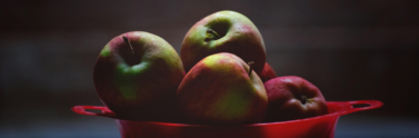
[[[91,112],[87,111],[86,109],[93,109],[93,110],[101,110],[102,112]],[[111,111],[108,107],[104,106],[74,106],[71,108],[72,111],[81,115],[88,116],[101,116],[101,117],[109,117],[109,118],[117,118],[113,111]]]

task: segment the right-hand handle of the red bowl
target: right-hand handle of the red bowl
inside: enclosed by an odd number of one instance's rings
[[[357,101],[347,101],[351,107],[347,114],[361,111],[361,110],[369,110],[381,107],[383,103],[379,100],[357,100]],[[368,106],[365,106],[368,105]],[[362,107],[355,107],[355,106],[362,106]]]

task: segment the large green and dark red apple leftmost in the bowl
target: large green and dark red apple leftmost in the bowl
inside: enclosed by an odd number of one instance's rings
[[[94,66],[101,101],[119,118],[167,120],[184,76],[177,51],[162,38],[131,31],[110,40]]]

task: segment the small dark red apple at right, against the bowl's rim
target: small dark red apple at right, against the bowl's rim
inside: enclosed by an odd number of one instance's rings
[[[269,99],[265,122],[302,119],[329,112],[320,90],[301,77],[277,77],[265,82],[265,88]]]

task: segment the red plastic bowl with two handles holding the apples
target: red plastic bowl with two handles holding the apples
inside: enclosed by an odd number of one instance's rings
[[[356,108],[356,105],[368,106]],[[382,102],[378,100],[328,101],[328,115],[235,127],[122,120],[107,107],[97,106],[76,106],[72,110],[81,115],[113,118],[122,138],[332,138],[340,116],[381,106]],[[86,109],[98,109],[102,114]]]

